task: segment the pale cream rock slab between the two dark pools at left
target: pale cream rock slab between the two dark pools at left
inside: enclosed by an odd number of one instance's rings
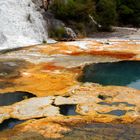
[[[0,108],[0,123],[9,118],[27,120],[47,116],[59,116],[59,108],[52,106],[54,97],[32,98]]]

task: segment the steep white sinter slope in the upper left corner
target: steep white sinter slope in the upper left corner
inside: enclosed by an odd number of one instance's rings
[[[0,0],[0,50],[42,43],[47,26],[32,0]]]

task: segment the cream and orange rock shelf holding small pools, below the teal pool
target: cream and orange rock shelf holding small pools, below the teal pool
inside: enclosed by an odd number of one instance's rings
[[[62,105],[75,105],[75,112],[79,115],[92,116],[93,121],[105,123],[119,119],[120,122],[133,122],[140,117],[139,98],[139,90],[79,83],[71,90],[67,90],[65,95],[34,97],[0,107],[0,123],[8,118],[26,120],[65,116],[66,114],[60,111]]]

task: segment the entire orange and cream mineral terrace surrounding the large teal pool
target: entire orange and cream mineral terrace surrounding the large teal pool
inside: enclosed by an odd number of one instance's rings
[[[138,140],[140,90],[79,78],[85,65],[125,65],[139,55],[138,40],[62,42],[1,53],[0,123],[10,122],[11,129],[2,126],[0,138]],[[21,124],[15,126],[16,121]]]

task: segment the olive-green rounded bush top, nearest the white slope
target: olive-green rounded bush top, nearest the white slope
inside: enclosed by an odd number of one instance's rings
[[[51,6],[56,18],[62,20],[84,21],[93,13],[93,0],[55,0]]]

